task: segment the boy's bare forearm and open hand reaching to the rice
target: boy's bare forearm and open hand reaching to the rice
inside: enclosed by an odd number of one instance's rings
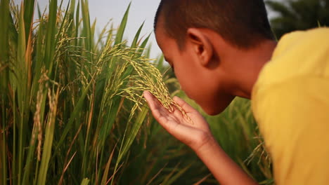
[[[144,97],[155,119],[171,135],[190,146],[220,184],[257,184],[221,149],[208,123],[193,107],[179,97],[174,97],[175,102],[191,118],[191,123],[178,110],[169,113],[149,92],[145,92]]]

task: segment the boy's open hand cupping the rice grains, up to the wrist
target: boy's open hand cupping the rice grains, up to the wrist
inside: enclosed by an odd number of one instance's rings
[[[153,116],[162,127],[181,142],[190,146],[194,151],[199,151],[207,142],[213,140],[209,125],[205,119],[181,98],[174,97],[174,101],[186,111],[187,116],[191,118],[193,123],[184,118],[178,109],[169,113],[150,92],[145,91],[143,96],[146,98]]]

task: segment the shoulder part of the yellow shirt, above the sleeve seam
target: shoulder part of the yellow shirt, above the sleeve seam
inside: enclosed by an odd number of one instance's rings
[[[329,77],[328,53],[329,28],[285,34],[260,72],[256,86],[276,85],[299,76]]]

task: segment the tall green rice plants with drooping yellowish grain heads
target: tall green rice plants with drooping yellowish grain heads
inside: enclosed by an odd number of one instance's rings
[[[216,183],[143,102],[145,89],[167,95],[159,73],[167,67],[163,57],[149,62],[143,24],[131,46],[123,40],[130,6],[117,29],[98,36],[86,0],[51,0],[38,18],[35,6],[0,1],[0,184]],[[250,123],[245,139],[253,137]],[[271,178],[254,170],[258,163],[243,163],[256,144],[229,153],[256,179]]]

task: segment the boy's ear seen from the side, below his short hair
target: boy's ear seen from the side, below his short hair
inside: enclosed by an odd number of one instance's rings
[[[189,28],[187,30],[187,40],[192,44],[193,51],[199,58],[202,66],[207,66],[211,62],[214,48],[205,32],[202,32],[202,29]]]

